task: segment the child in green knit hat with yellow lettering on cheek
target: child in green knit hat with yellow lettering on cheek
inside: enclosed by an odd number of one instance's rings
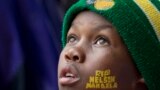
[[[60,90],[160,90],[160,1],[80,0],[66,13]]]

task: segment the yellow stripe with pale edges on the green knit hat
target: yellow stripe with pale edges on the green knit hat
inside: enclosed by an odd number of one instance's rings
[[[134,0],[153,26],[160,41],[160,11],[149,0]]]

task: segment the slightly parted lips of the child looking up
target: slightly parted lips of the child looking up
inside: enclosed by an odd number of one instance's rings
[[[78,71],[74,65],[66,65],[60,71],[59,83],[61,85],[71,85],[80,80]]]

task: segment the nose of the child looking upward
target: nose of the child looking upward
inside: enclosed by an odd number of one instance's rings
[[[68,49],[65,53],[65,59],[68,61],[75,61],[82,63],[85,60],[85,53],[83,49],[78,48],[78,47],[73,47]]]

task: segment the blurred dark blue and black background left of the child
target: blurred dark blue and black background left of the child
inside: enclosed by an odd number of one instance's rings
[[[0,90],[58,90],[64,13],[76,0],[0,0]]]

